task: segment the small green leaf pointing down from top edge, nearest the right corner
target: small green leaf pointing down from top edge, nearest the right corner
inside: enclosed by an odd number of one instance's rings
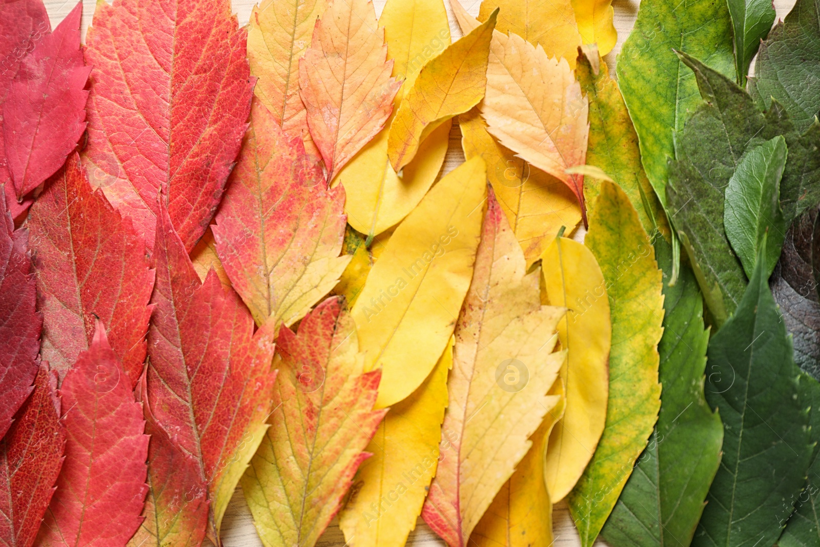
[[[777,13],[772,0],[727,0],[735,36],[737,83],[744,85],[749,63],[758,51],[760,40],[772,30]]]

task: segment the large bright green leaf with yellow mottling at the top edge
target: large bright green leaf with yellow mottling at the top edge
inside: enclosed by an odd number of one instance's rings
[[[618,84],[635,124],[646,175],[666,205],[672,134],[698,98],[695,75],[672,48],[689,52],[726,75],[734,73],[731,18],[722,0],[645,0],[617,57]]]

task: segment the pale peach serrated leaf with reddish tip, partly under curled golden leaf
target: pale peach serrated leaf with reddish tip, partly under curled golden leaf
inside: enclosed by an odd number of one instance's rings
[[[451,5],[462,30],[478,25],[458,0]],[[495,31],[479,108],[501,144],[572,190],[586,220],[584,177],[566,170],[585,163],[589,105],[567,61],[547,57],[517,34]]]

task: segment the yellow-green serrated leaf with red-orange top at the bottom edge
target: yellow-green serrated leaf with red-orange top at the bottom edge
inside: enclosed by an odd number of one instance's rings
[[[312,547],[341,507],[386,410],[373,410],[380,371],[363,372],[344,300],[326,299],[276,339],[270,429],[242,488],[265,545]]]

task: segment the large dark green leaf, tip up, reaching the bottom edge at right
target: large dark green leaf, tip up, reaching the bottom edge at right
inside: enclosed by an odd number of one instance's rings
[[[695,547],[773,545],[813,454],[805,376],[769,291],[766,243],[735,314],[709,341],[706,400],[723,421],[723,459]]]

